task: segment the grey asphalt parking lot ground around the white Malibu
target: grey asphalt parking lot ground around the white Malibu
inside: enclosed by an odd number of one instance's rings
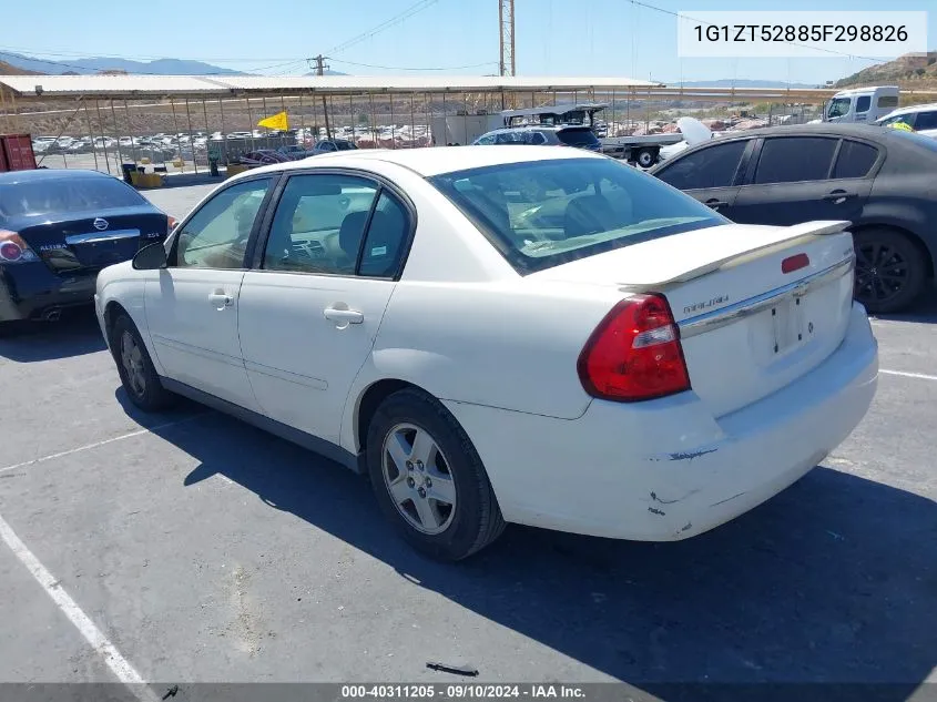
[[[211,187],[147,196],[181,216]],[[0,541],[0,682],[114,682],[91,622],[161,685],[465,680],[426,668],[442,661],[907,699],[937,682],[937,301],[873,325],[869,414],[748,515],[668,545],[509,527],[455,566],[404,546],[335,464],[195,404],[139,413],[90,311],[0,339],[0,531],[22,547]]]

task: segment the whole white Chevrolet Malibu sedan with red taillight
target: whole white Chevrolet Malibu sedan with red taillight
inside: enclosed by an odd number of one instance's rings
[[[435,557],[505,522],[669,541],[865,415],[846,224],[732,224],[579,149],[346,151],[230,179],[95,301],[134,404],[185,395],[369,474]]]

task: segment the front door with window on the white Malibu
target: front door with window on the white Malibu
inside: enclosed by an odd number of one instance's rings
[[[272,179],[216,193],[180,225],[169,265],[146,282],[146,324],[166,376],[256,410],[237,314],[244,256]]]

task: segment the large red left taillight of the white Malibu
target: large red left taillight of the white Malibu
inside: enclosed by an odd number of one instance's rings
[[[680,329],[663,295],[635,295],[599,324],[577,364],[594,397],[634,403],[690,389]]]

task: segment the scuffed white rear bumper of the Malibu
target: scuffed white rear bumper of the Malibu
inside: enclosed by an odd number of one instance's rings
[[[854,305],[823,364],[719,419],[694,393],[576,420],[446,403],[488,469],[508,521],[600,537],[673,541],[776,495],[835,449],[875,395],[878,352]]]

